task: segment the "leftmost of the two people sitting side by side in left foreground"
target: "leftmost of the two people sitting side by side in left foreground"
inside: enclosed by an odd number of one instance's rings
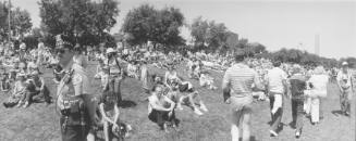
[[[17,74],[17,81],[14,85],[14,89],[8,99],[7,102],[3,103],[3,106],[5,107],[12,107],[17,104],[17,107],[20,107],[24,102],[22,101],[23,95],[26,92],[26,75],[24,73]]]

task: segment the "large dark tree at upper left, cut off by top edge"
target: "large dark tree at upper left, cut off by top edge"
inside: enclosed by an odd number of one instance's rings
[[[73,44],[98,44],[106,40],[105,33],[116,23],[119,2],[103,0],[41,0],[40,17],[41,28],[48,36],[64,34],[72,39]],[[99,40],[90,40],[98,38]]]

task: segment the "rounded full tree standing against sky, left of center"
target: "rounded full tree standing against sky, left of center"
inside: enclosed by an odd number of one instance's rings
[[[183,22],[184,16],[179,9],[157,10],[149,4],[143,4],[127,13],[121,30],[130,35],[126,41],[132,46],[152,41],[154,44],[160,43],[170,48],[185,42],[180,36]]]

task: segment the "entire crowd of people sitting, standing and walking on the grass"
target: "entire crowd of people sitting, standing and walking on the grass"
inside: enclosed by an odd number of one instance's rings
[[[347,62],[342,68],[307,67],[282,63],[278,60],[245,57],[236,52],[231,55],[201,52],[164,52],[148,43],[145,48],[98,48],[71,46],[58,37],[56,49],[45,47],[39,40],[35,49],[21,43],[0,44],[1,90],[8,92],[5,107],[28,107],[32,103],[54,102],[60,111],[63,140],[95,139],[95,132],[103,130],[105,139],[124,138],[132,127],[120,120],[121,86],[127,78],[142,82],[147,94],[148,119],[161,130],[177,129],[180,120],[175,111],[188,106],[199,116],[209,112],[197,87],[217,91],[212,72],[224,73],[222,90],[224,102],[231,105],[231,134],[237,141],[240,129],[243,140],[249,140],[251,102],[254,97],[270,102],[273,137],[279,136],[283,105],[292,101],[295,137],[302,136],[304,115],[310,115],[312,124],[323,118],[321,106],[327,97],[327,85],[334,78],[340,88],[341,108],[349,116],[353,76]],[[184,55],[183,55],[184,54]],[[100,79],[101,93],[93,93],[87,65],[97,63],[95,79]],[[182,68],[182,66],[184,68]],[[152,67],[164,69],[164,75]],[[180,68],[177,68],[180,67]],[[50,94],[41,69],[53,70],[57,93]],[[339,73],[337,73],[339,72]],[[179,74],[183,74],[179,75]],[[194,86],[192,81],[198,81]],[[51,95],[56,95],[52,99]]]

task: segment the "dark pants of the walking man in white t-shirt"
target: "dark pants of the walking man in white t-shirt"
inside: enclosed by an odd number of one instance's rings
[[[269,99],[270,99],[270,108],[272,111],[273,103],[274,103],[274,94],[270,95]],[[283,103],[283,98],[282,98],[282,103]],[[271,130],[273,131],[278,130],[279,125],[281,124],[282,120],[282,115],[283,115],[283,105],[282,107],[278,108],[278,111],[274,114],[271,113],[271,118],[272,118]]]

